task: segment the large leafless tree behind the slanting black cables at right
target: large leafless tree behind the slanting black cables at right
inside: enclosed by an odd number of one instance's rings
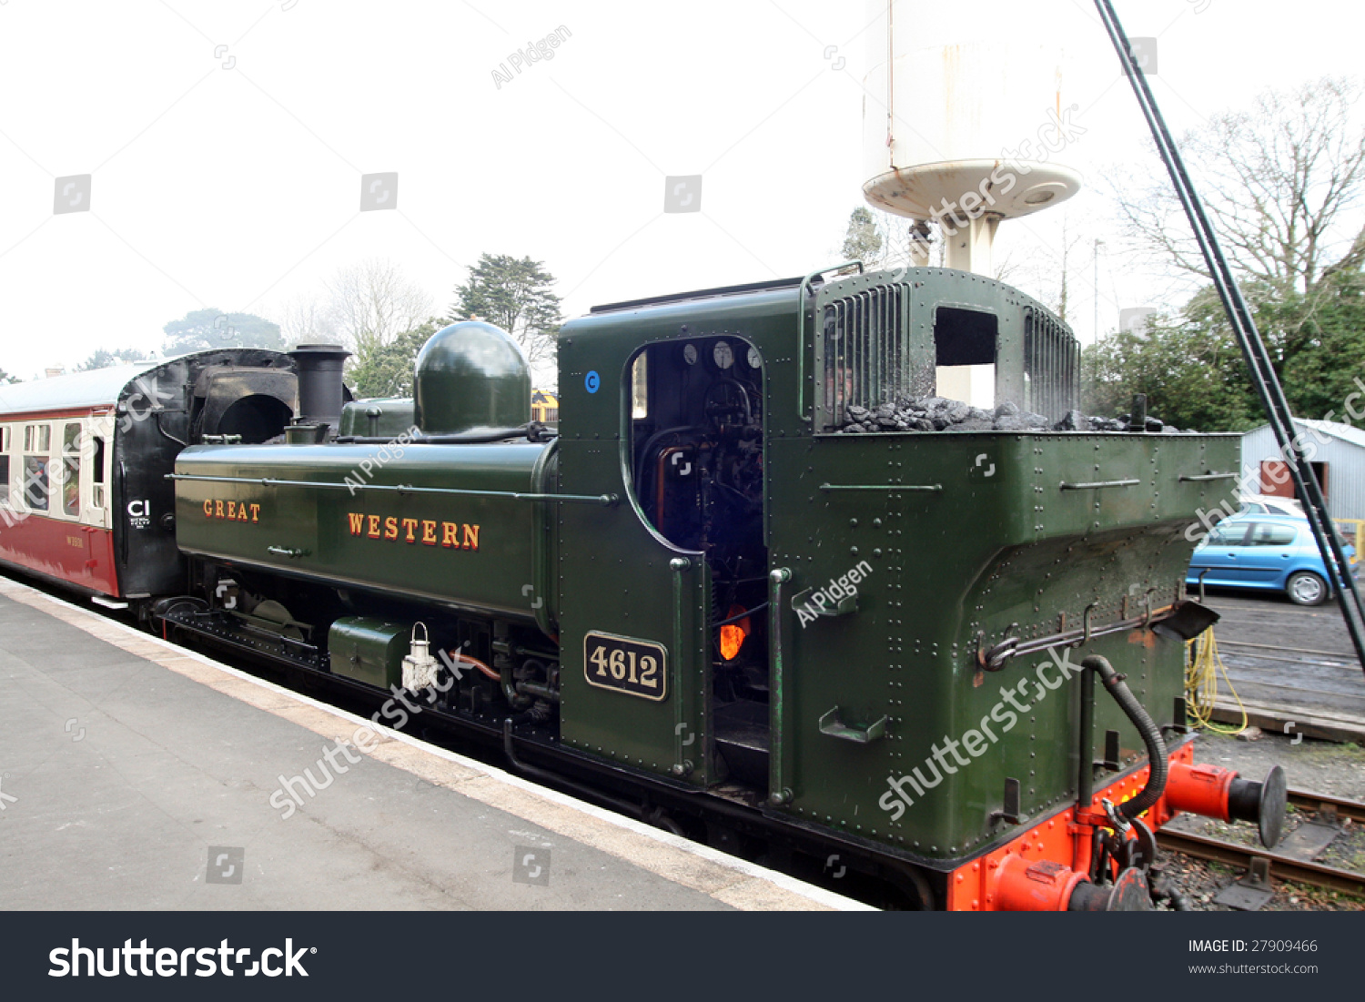
[[[1219,115],[1181,139],[1231,263],[1275,299],[1312,296],[1330,262],[1365,258],[1365,229],[1353,233],[1350,218],[1365,180],[1360,93],[1342,78],[1265,91],[1253,111]],[[1115,172],[1108,183],[1138,246],[1208,278],[1164,171]]]

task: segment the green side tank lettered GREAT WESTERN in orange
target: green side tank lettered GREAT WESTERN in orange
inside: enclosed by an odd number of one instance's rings
[[[549,624],[554,590],[547,568],[536,576],[532,557],[535,526],[546,517],[538,512],[602,508],[556,504],[560,496],[536,491],[534,471],[546,449],[194,446],[176,460],[180,549]],[[532,595],[543,597],[541,609]]]

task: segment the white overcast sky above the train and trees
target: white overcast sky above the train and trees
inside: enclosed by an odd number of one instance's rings
[[[1117,7],[1159,40],[1177,131],[1268,86],[1361,72],[1358,3]],[[1159,171],[1093,5],[1029,10],[1065,48],[1087,128],[1065,162],[1088,182]],[[566,315],[833,263],[861,203],[865,26],[863,3],[829,0],[0,0],[0,369],[157,348],[203,307],[280,319],[366,257],[444,309],[482,251],[530,255]],[[553,59],[515,63],[557,30]],[[988,30],[964,14],[964,41]],[[362,175],[388,172],[396,207],[360,212]],[[56,180],[78,175],[87,202],[55,214]],[[702,176],[700,212],[665,213],[672,175]],[[1102,329],[1162,295],[1118,259],[1093,184],[1007,223],[998,253],[1055,244],[1063,212],[1107,242]],[[1088,247],[1073,283],[1089,340]]]

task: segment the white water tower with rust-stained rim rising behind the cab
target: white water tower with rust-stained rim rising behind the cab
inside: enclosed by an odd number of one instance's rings
[[[1077,109],[1054,37],[1073,16],[1066,0],[868,3],[863,194],[936,225],[949,268],[991,274],[1002,220],[1059,205],[1081,187],[1065,160],[1084,130],[1072,126]],[[927,243],[912,263],[928,263]],[[940,373],[938,392],[988,403],[994,366],[972,369],[987,371],[973,371],[971,386],[965,373]]]

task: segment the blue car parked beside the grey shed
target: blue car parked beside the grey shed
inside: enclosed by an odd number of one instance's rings
[[[1355,549],[1338,542],[1357,572]],[[1283,591],[1299,605],[1319,605],[1331,595],[1327,568],[1308,519],[1246,512],[1218,523],[1190,557],[1188,586]]]

